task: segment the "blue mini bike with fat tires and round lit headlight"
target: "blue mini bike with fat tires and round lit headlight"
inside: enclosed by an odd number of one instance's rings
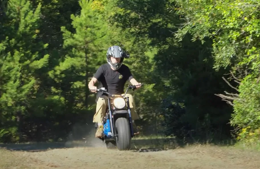
[[[96,90],[107,93],[110,96],[107,98],[108,107],[103,119],[104,135],[100,138],[103,141],[105,140],[107,148],[117,146],[119,150],[129,150],[131,147],[131,138],[136,133],[133,130],[129,97],[125,97],[125,95],[127,95],[128,89],[133,89],[134,91],[136,87],[135,85],[128,85],[123,96],[110,95],[104,87]],[[95,127],[97,128],[98,126],[95,125]]]

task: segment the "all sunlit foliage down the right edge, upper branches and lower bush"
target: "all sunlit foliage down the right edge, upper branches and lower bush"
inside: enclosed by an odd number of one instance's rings
[[[234,101],[234,126],[259,127],[260,19],[256,0],[176,0],[179,14],[185,15],[176,34],[180,40],[191,33],[194,40],[210,37],[213,41],[214,68],[232,66],[245,70],[239,85],[239,100]]]

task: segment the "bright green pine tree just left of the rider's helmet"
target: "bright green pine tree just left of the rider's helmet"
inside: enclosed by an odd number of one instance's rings
[[[60,86],[70,88],[74,106],[81,109],[88,106],[88,78],[104,63],[106,50],[116,36],[112,36],[113,27],[106,22],[105,16],[93,9],[92,0],[81,0],[79,3],[80,15],[71,15],[75,33],[61,27],[68,54],[61,59],[55,71],[50,72],[50,76]]]

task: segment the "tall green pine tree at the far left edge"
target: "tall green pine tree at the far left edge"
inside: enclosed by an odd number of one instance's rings
[[[22,117],[35,99],[40,83],[36,71],[48,64],[49,55],[44,55],[47,44],[37,41],[40,8],[39,4],[33,10],[27,0],[9,0],[1,27],[6,38],[0,38],[0,118],[13,125],[9,128],[13,134],[17,129],[21,133]]]

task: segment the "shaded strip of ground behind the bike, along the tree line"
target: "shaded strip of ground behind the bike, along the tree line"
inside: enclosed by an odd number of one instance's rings
[[[33,142],[24,144],[0,144],[0,148],[6,148],[11,151],[48,151],[51,149],[74,148],[74,147],[103,147],[106,148],[105,143],[98,138],[95,138],[96,129],[90,128],[85,138],[81,140],[69,139],[66,142]],[[230,141],[225,142],[206,142],[206,141],[183,141],[175,138],[157,138],[157,137],[135,137],[131,141],[131,150],[134,152],[156,152],[168,149],[175,149],[177,147],[185,147],[187,144],[215,144],[215,145],[231,145]]]

